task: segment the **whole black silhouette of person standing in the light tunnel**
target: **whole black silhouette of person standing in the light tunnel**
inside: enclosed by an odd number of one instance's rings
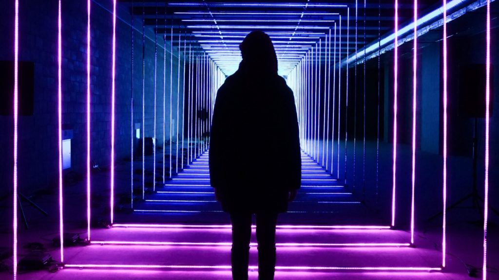
[[[210,178],[232,221],[232,275],[248,279],[252,214],[256,214],[258,279],[273,279],[277,214],[287,211],[301,179],[296,107],[277,75],[267,34],[240,45],[243,61],[220,87],[210,138]]]

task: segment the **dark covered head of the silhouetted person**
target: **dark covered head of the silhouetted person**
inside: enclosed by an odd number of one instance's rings
[[[252,31],[239,45],[243,63],[252,69],[277,73],[277,56],[270,37],[263,31]]]

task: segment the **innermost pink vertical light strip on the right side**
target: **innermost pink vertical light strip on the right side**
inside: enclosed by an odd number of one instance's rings
[[[444,0],[445,1],[445,0]],[[398,67],[398,26],[399,2],[395,0],[395,40],[394,40],[394,63],[393,63],[393,177],[392,177],[392,227],[395,226],[395,186],[397,166],[397,67]],[[445,24],[444,24],[445,25]]]

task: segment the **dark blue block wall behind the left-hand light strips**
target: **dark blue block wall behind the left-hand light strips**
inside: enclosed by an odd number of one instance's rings
[[[102,2],[102,3],[101,3]],[[19,187],[55,188],[57,183],[57,1],[19,1],[19,60],[34,62],[34,113],[19,117]],[[111,146],[111,61],[112,6],[92,1],[91,11],[91,160],[100,166],[110,162]],[[0,10],[0,60],[13,60],[13,1]],[[131,37],[129,11],[118,5],[116,20],[116,103],[115,154],[130,155],[131,82],[134,83],[134,123],[142,122],[142,24],[135,19],[134,75],[131,76]],[[86,1],[62,3],[62,124],[73,132],[71,169],[83,173],[86,166]],[[154,33],[146,29],[145,40],[145,136],[153,136],[154,120]],[[152,40],[151,40],[152,39]],[[163,142],[163,39],[158,36],[158,141]],[[176,98],[177,48],[174,47]],[[170,71],[170,42],[167,42],[167,79]],[[182,75],[181,75],[182,78]],[[169,83],[169,80],[167,80]],[[166,91],[169,101],[169,85]],[[174,104],[176,99],[174,98]],[[181,101],[182,102],[182,101]],[[182,103],[181,103],[182,104]],[[169,102],[166,103],[167,112]],[[161,111],[160,111],[161,110]],[[174,108],[176,110],[176,107]],[[182,110],[182,109],[181,109]],[[174,116],[176,112],[174,112]],[[182,116],[182,114],[180,114]],[[169,119],[167,119],[169,127]],[[0,116],[0,193],[11,190],[11,116]],[[168,137],[167,137],[168,139]]]

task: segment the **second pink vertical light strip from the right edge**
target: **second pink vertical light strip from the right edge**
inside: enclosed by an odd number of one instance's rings
[[[445,268],[446,253],[447,253],[447,0],[443,0],[444,5],[444,35],[443,35],[443,52],[444,52],[444,170],[443,170],[443,221],[442,221],[442,267]]]

